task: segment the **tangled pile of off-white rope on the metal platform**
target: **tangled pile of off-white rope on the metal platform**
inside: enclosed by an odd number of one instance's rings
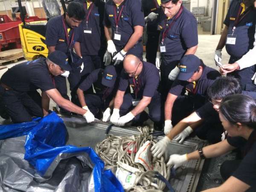
[[[168,181],[171,174],[170,167],[166,166],[164,157],[152,158],[151,165],[153,170],[147,171],[140,163],[135,163],[135,155],[137,150],[146,142],[150,141],[152,145],[157,143],[153,135],[150,134],[148,126],[138,127],[140,135],[127,136],[113,136],[108,135],[105,140],[96,145],[96,153],[105,162],[105,169],[111,169],[114,173],[116,168],[120,165],[118,162],[122,162],[139,169],[140,172],[136,172],[135,183],[132,187],[126,189],[127,192],[150,192],[161,191],[168,186],[168,182],[163,182],[164,178]],[[132,148],[132,149],[131,149]],[[128,152],[128,150],[130,150]],[[157,176],[163,176],[160,179]],[[170,185],[168,186],[170,189]],[[173,191],[173,189],[170,189]]]

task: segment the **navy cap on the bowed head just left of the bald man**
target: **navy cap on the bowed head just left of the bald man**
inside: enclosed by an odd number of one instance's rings
[[[113,65],[105,68],[102,76],[102,84],[107,87],[113,87],[116,82],[116,69]]]

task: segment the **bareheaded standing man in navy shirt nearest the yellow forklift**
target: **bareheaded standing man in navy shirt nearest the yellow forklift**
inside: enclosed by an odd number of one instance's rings
[[[64,15],[59,15],[52,17],[47,23],[46,29],[46,39],[45,44],[47,44],[49,53],[59,50],[64,52],[69,57],[69,63],[73,70],[81,67],[82,60],[81,58],[73,61],[71,55],[76,57],[81,57],[81,46],[79,42],[80,29],[79,25],[84,19],[85,12],[81,5],[78,2],[71,2],[67,6],[67,12]],[[81,27],[81,25],[80,25]],[[76,51],[76,54],[71,54],[73,48]],[[69,99],[67,96],[67,83],[66,77],[69,76],[69,72],[65,72],[62,76],[56,76],[55,86],[57,90],[65,99]],[[72,78],[69,79],[70,85],[73,88]]]

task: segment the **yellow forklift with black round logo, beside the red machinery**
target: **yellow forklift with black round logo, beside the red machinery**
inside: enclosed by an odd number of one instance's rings
[[[46,20],[25,22],[21,0],[17,0],[20,8],[20,17],[22,23],[19,24],[20,41],[23,54],[26,60],[31,61],[39,57],[47,57],[48,49],[45,42],[46,24],[49,18],[61,14],[60,6],[56,0],[43,0],[42,4],[47,15]],[[61,0],[63,11],[66,12],[64,0]]]

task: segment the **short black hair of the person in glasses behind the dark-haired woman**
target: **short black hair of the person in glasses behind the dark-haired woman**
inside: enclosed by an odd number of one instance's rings
[[[228,95],[239,93],[242,93],[241,85],[238,79],[232,76],[219,77],[207,90],[207,95],[212,100],[221,100]]]

